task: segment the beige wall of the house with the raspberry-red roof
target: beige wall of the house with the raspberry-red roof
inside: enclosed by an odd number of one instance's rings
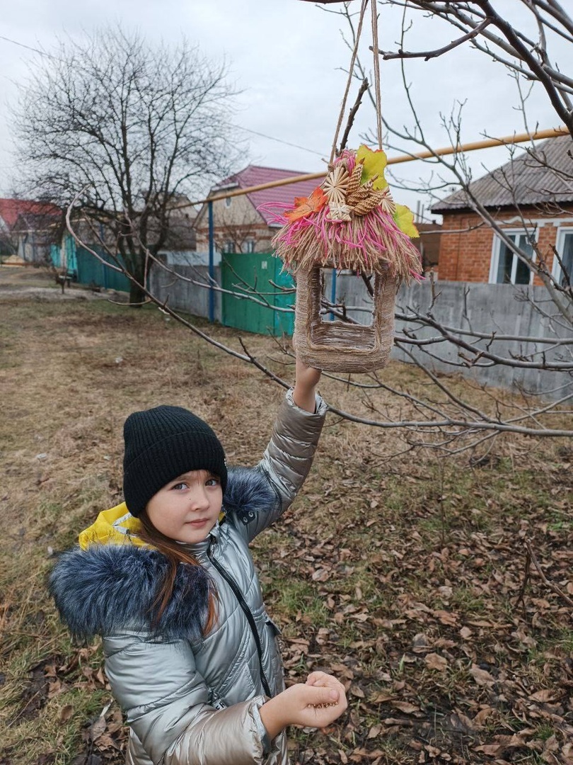
[[[230,197],[231,205],[225,200],[213,202],[213,235],[219,251],[231,240],[235,252],[244,252],[246,239],[254,240],[254,252],[270,252],[270,240],[274,229],[270,229],[260,213],[254,209],[248,197]],[[209,249],[209,216],[207,205],[202,207],[196,220],[197,249],[206,252]]]

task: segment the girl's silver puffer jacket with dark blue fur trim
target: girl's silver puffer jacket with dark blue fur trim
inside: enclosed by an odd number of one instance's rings
[[[131,726],[127,765],[286,765],[286,736],[269,741],[259,708],[283,690],[278,630],[267,616],[248,549],[293,501],[312,464],[326,407],[280,407],[264,457],[229,470],[225,519],[187,549],[173,597],[152,627],[165,558],[131,545],[64,553],[50,589],[78,637],[101,634],[112,692]],[[209,588],[216,626],[206,636]]]

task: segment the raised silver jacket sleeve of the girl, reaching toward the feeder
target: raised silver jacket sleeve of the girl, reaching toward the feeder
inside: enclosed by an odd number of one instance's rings
[[[284,513],[302,487],[319,443],[326,409],[325,402],[317,395],[315,412],[306,412],[295,404],[293,389],[286,392],[274,421],[269,444],[257,465],[257,470],[270,484],[277,502],[272,509],[265,508],[251,513],[251,520],[244,529],[249,542]]]

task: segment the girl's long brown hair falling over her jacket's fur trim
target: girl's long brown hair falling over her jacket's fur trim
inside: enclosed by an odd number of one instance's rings
[[[167,608],[171,596],[173,595],[173,586],[175,584],[175,576],[177,573],[177,567],[180,563],[186,563],[189,566],[200,565],[196,558],[193,558],[183,545],[178,544],[174,539],[157,531],[149,516],[147,510],[144,510],[140,514],[139,520],[141,522],[141,531],[139,537],[147,544],[152,545],[159,552],[163,553],[167,558],[169,567],[167,573],[160,584],[160,588],[157,591],[157,596],[153,602],[152,608],[157,608],[157,614],[154,617],[154,627],[157,627],[163,611]],[[214,588],[209,587],[209,595],[207,599],[207,620],[202,627],[203,636],[209,634],[212,628],[215,626],[217,620],[217,593]]]

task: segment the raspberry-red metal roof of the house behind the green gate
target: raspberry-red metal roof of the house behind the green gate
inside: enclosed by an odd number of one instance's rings
[[[231,184],[237,184],[239,188],[244,189],[305,174],[304,171],[263,168],[257,164],[250,164],[247,168],[241,170],[240,173],[225,178],[225,181],[221,181],[213,190],[223,191],[223,187],[230,186]],[[263,204],[270,204],[271,206],[277,204],[279,207],[280,205],[287,204],[289,207],[294,207],[294,197],[309,197],[320,183],[320,179],[317,181],[299,181],[296,184],[288,184],[287,186],[276,186],[261,191],[253,191],[251,194],[247,194],[247,197],[251,204],[257,208]],[[269,211],[263,209],[259,210],[259,212],[264,217],[265,223],[270,224],[273,222],[273,216]]]

